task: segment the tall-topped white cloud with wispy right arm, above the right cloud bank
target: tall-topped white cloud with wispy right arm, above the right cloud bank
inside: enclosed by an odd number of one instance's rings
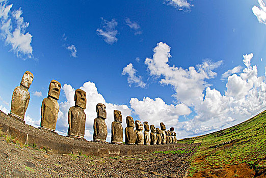
[[[174,95],[176,99],[188,106],[193,106],[203,99],[203,90],[209,86],[205,79],[214,78],[217,73],[212,70],[222,64],[222,61],[213,63],[208,60],[197,65],[197,70],[195,67],[182,69],[169,66],[170,47],[166,43],[157,43],[153,52],[153,58],[145,60],[150,75],[161,77],[159,81],[161,84],[172,85],[176,92]]]

